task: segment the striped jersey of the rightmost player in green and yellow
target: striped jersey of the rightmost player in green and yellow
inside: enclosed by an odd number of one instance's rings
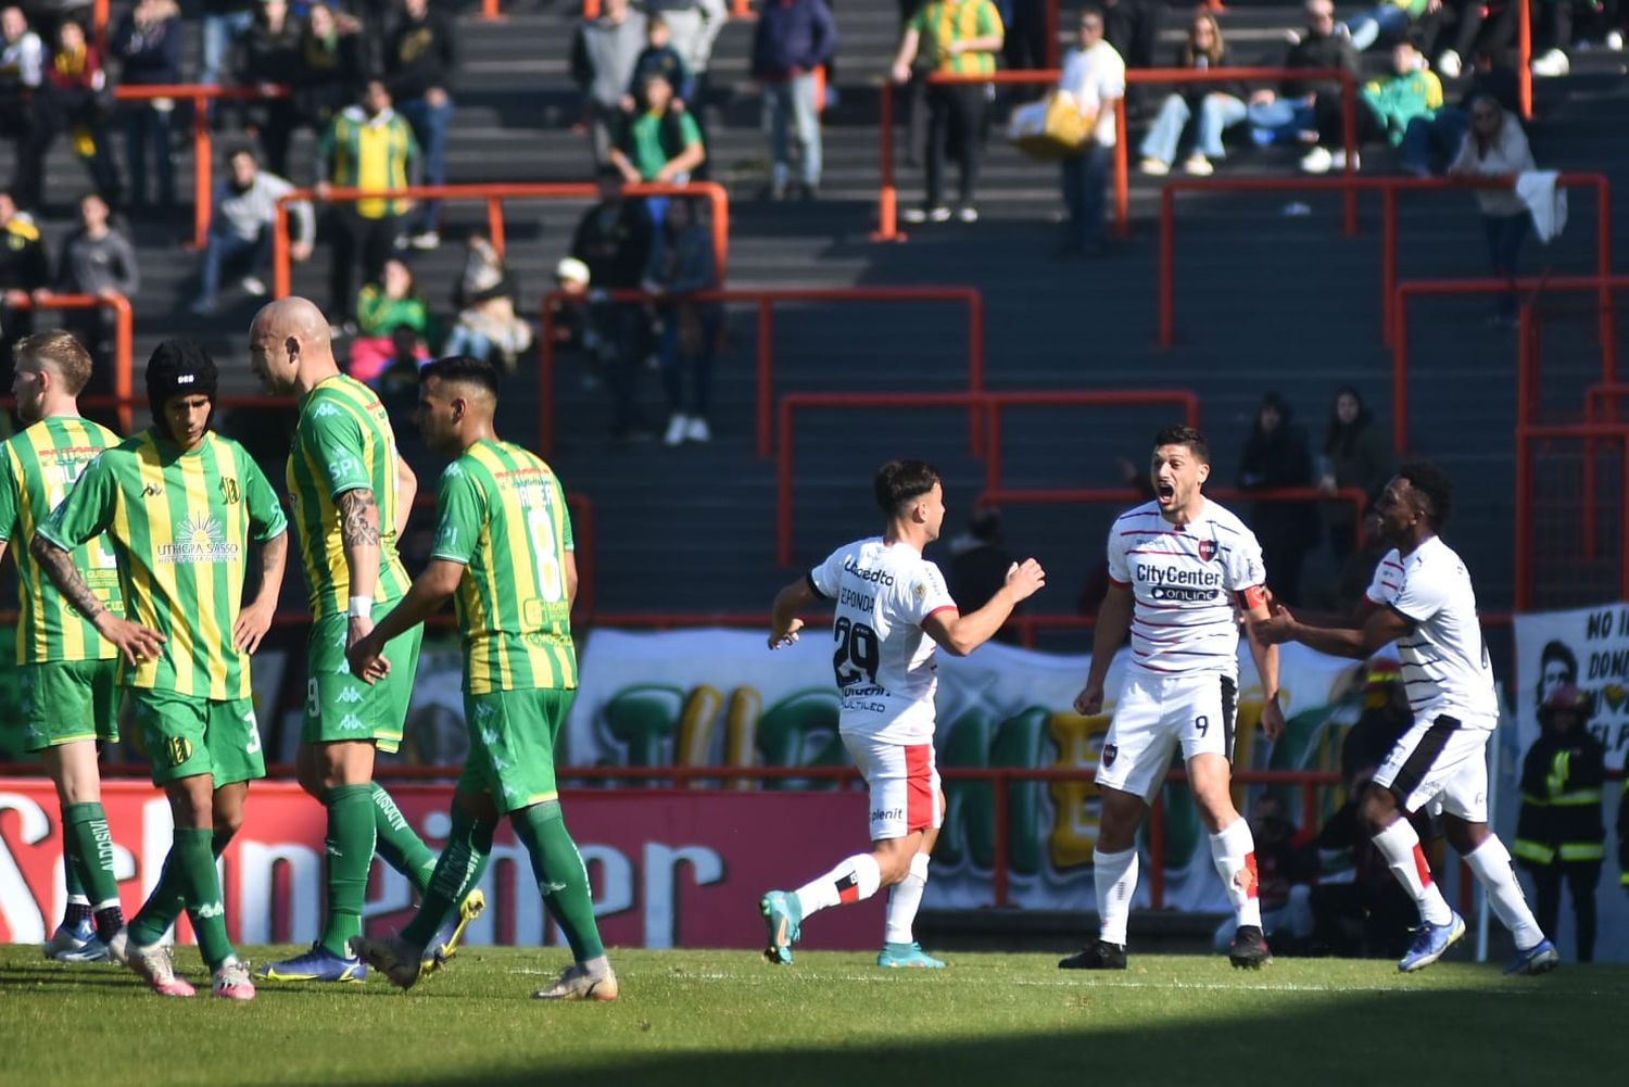
[[[432,557],[464,567],[464,689],[575,688],[565,592],[565,552],[575,544],[554,469],[518,445],[476,442],[441,473],[435,500]]]

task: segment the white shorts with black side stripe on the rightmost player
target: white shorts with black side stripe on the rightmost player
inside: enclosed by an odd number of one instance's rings
[[[1417,717],[1375,771],[1375,784],[1396,794],[1409,815],[1432,805],[1434,812],[1440,807],[1468,823],[1486,823],[1491,735],[1447,714]]]

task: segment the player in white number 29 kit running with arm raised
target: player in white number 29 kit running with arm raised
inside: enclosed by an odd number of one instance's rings
[[[769,929],[764,957],[790,963],[803,921],[818,909],[888,893],[888,927],[878,966],[943,966],[912,937],[929,854],[945,815],[933,764],[933,647],[964,657],[990,639],[1018,601],[1043,585],[1034,559],[1015,562],[1007,583],[982,608],[961,614],[938,567],[922,548],[938,539],[945,489],[924,461],[883,464],[873,481],[886,517],[881,536],[837,548],[775,595],[769,647],[798,639],[798,611],[832,600],[832,663],[842,694],[839,732],[870,787],[872,851],[860,852],[795,891],[759,901]]]

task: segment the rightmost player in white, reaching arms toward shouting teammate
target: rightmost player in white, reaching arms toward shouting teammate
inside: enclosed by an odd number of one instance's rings
[[[1554,970],[1561,957],[1521,896],[1510,852],[1487,826],[1487,738],[1499,725],[1499,696],[1471,575],[1437,535],[1451,500],[1453,487],[1442,471],[1404,466],[1380,495],[1380,531],[1393,549],[1375,570],[1359,626],[1313,626],[1274,606],[1274,616],[1256,626],[1256,637],[1359,660],[1396,642],[1414,725],[1375,771],[1363,818],[1375,847],[1420,911],[1420,927],[1398,970],[1430,966],[1464,935],[1464,921],[1432,882],[1419,836],[1403,818],[1422,805],[1440,805],[1448,844],[1471,865],[1515,937],[1517,957],[1505,973],[1538,975]]]

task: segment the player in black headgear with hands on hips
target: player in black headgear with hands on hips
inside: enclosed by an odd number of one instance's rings
[[[248,451],[209,429],[215,362],[199,344],[171,339],[147,363],[153,425],[91,461],[33,552],[62,595],[124,657],[135,720],[169,797],[174,841],[147,904],[109,942],[109,953],[163,996],[192,996],[174,975],[165,931],[186,908],[213,994],[254,997],[248,966],[226,939],[215,857],[243,823],[249,781],[266,776],[249,691],[249,654],[261,644],[283,580],[283,510]],[[125,606],[106,611],[73,566],[73,548],[106,533]],[[241,605],[249,543],[261,544],[259,588]],[[163,631],[163,632],[160,632]]]

